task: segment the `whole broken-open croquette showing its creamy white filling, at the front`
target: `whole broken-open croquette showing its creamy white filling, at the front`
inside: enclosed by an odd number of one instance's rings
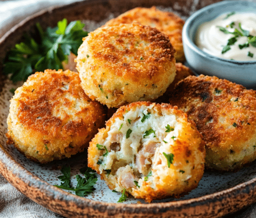
[[[193,121],[168,104],[123,106],[90,142],[88,166],[112,190],[151,202],[179,198],[203,176],[205,144]]]

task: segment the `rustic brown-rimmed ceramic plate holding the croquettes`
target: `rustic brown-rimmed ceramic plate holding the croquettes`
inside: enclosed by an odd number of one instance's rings
[[[92,31],[108,19],[135,6],[156,5],[159,9],[174,11],[186,19],[195,10],[214,2],[216,1],[87,0],[42,11],[16,25],[0,39],[0,62],[6,51],[18,42],[24,30],[33,31],[34,24],[38,21],[45,27],[55,26],[64,17],[69,21],[80,19]],[[188,195],[180,199],[153,201],[150,204],[132,197],[124,203],[117,203],[121,193],[112,192],[100,178],[95,186],[96,190],[85,198],[58,189],[53,185],[60,185],[57,177],[61,175],[61,167],[71,166],[72,183],[75,184],[74,175],[79,174],[79,169],[87,165],[86,152],[42,165],[28,160],[13,146],[6,145],[6,117],[12,97],[9,90],[22,84],[14,85],[1,74],[0,76],[0,173],[28,198],[53,212],[68,218],[217,218],[256,202],[256,162],[233,173],[206,171],[198,188]]]

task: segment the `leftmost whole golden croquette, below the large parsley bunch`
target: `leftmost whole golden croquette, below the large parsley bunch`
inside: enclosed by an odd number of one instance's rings
[[[41,163],[89,146],[104,126],[103,106],[89,99],[78,73],[45,70],[28,77],[10,100],[7,143]]]

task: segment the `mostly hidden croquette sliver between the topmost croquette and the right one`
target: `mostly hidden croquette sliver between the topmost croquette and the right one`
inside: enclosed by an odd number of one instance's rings
[[[169,95],[170,93],[174,90],[175,85],[185,79],[188,76],[193,76],[194,73],[185,65],[183,65],[182,63],[176,63],[176,76],[173,80],[173,82],[168,86],[168,88],[166,89],[165,93],[160,96],[157,100],[155,100],[157,103],[169,103]]]

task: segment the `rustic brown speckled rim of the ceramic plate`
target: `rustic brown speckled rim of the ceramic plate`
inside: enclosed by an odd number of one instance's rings
[[[96,1],[106,2],[104,0]],[[86,3],[96,1],[88,0]],[[76,6],[79,4],[80,2],[75,2],[72,5]],[[68,8],[72,5],[62,6],[60,8]],[[7,38],[8,40],[11,38],[15,42],[18,37],[14,36],[13,33],[16,32],[17,29],[24,31],[22,27],[25,24],[27,28],[30,28],[36,20],[40,20],[41,16],[44,16],[46,13],[50,14],[52,11],[58,9],[59,8],[50,8],[40,11],[31,17],[27,17],[1,37],[0,44],[4,44],[3,42]],[[31,21],[32,18],[34,18],[34,20]],[[30,25],[27,25],[29,22]],[[13,35],[12,37],[10,37],[11,34]],[[2,145],[0,145],[0,173],[10,184],[25,196],[45,208],[65,217],[217,218],[234,213],[256,202],[256,178],[225,191],[177,202],[152,204],[115,204],[96,202],[64,192],[34,176],[24,167],[19,165],[6,152]]]

